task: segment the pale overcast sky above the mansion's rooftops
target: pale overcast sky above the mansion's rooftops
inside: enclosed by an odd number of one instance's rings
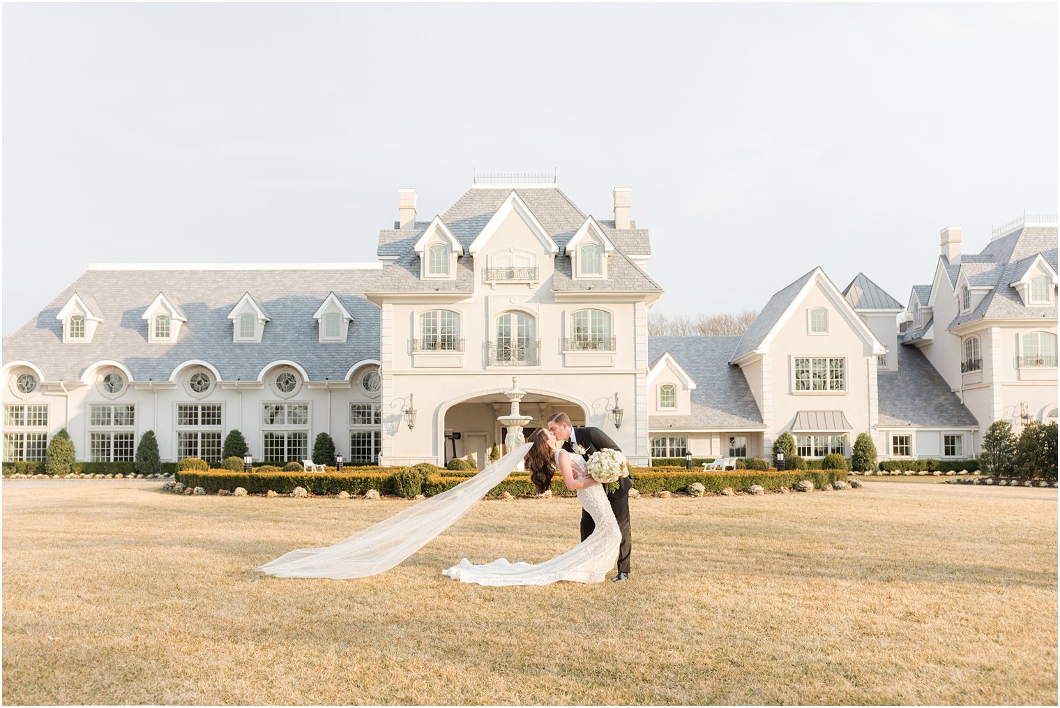
[[[94,262],[374,261],[398,188],[559,173],[667,314],[1057,211],[1057,7],[6,4],[3,332]]]

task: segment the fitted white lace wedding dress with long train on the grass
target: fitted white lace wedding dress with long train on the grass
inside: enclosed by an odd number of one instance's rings
[[[558,465],[559,455],[560,452],[556,453]],[[575,477],[585,478],[587,476],[585,460],[580,455],[571,455],[570,460]],[[563,555],[556,555],[536,565],[524,562],[509,563],[506,559],[475,565],[463,559],[442,573],[464,583],[491,586],[549,585],[564,580],[575,583],[602,583],[618,557],[622,533],[618,529],[615,512],[611,509],[607,493],[602,485],[591,484],[578,490],[578,500],[593,516],[596,530],[588,538]]]

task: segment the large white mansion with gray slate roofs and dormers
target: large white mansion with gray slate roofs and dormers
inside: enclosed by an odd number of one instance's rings
[[[502,441],[519,377],[536,425],[564,410],[637,463],[799,454],[962,458],[995,420],[1057,417],[1056,217],[961,255],[942,230],[931,285],[903,307],[859,273],[813,268],[742,336],[650,337],[662,288],[648,230],[585,214],[554,183],[474,184],[417,220],[413,190],[378,262],[90,265],[3,342],[4,460],[39,460],[66,427],[84,460],[301,460],[320,432],[347,460],[473,457]],[[413,412],[414,411],[414,412]]]

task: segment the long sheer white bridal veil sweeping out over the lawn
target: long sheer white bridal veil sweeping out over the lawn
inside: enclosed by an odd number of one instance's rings
[[[518,466],[530,443],[505,455],[465,482],[358,531],[334,546],[300,548],[258,568],[278,578],[367,578],[389,570],[456,524]]]

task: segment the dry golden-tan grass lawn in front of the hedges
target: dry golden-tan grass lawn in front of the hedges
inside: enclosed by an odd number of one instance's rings
[[[629,583],[483,588],[572,499],[483,501],[393,570],[254,567],[410,503],[4,484],[7,704],[1055,704],[1057,492],[640,499]]]

